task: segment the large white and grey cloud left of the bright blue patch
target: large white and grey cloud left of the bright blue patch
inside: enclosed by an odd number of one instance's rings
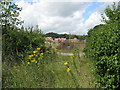
[[[17,2],[23,10],[20,17],[24,26],[39,25],[43,32],[74,33],[77,24],[83,21],[82,13],[90,4],[84,3],[45,3],[29,4]]]

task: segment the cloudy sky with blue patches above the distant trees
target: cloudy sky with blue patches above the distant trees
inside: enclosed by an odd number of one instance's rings
[[[104,14],[105,8],[112,4],[104,2],[105,0],[92,1],[14,0],[13,2],[22,8],[19,18],[24,20],[24,27],[38,25],[43,33],[86,35],[94,26],[104,24],[101,22],[101,14]]]

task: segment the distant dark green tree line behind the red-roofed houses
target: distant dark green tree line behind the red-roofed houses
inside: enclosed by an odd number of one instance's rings
[[[87,38],[87,35],[58,34],[54,32],[46,33],[45,36],[52,38],[67,38],[67,39],[77,38],[79,40],[85,40]]]

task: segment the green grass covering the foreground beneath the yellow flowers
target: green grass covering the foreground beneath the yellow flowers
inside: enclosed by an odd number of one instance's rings
[[[4,88],[94,88],[94,64],[82,56],[49,55],[44,64],[10,66],[3,63]],[[74,66],[76,63],[77,70]],[[66,71],[65,62],[69,62],[71,72]],[[71,75],[72,73],[72,75]]]

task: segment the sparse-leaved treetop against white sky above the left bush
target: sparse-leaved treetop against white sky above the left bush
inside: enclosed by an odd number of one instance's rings
[[[4,35],[10,28],[13,29],[22,24],[22,21],[18,19],[19,12],[22,9],[8,0],[1,1],[1,6],[0,23],[2,25],[2,35]]]

